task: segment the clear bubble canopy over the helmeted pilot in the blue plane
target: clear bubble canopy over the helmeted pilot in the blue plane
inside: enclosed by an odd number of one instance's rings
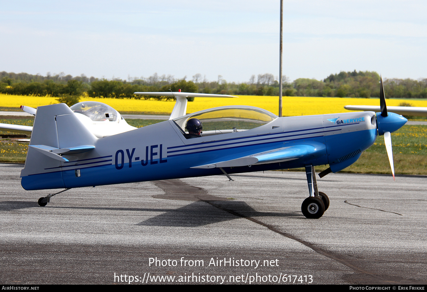
[[[209,108],[178,117],[173,121],[184,130],[188,120],[196,118],[203,124],[203,136],[243,131],[270,123],[277,116],[262,108],[247,105],[221,106]],[[234,128],[234,129],[233,129]]]

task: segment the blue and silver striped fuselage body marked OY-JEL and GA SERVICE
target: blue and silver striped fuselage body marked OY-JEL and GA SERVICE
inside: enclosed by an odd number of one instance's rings
[[[295,145],[314,150],[292,161],[226,170],[238,173],[329,164],[336,172],[354,163],[376,137],[374,112],[278,117],[256,128],[222,129],[193,139],[186,139],[182,128],[169,120],[96,139],[95,149],[74,155],[68,162],[53,161],[34,173],[23,171],[21,184],[26,190],[40,190],[219,175],[219,168],[191,167]]]

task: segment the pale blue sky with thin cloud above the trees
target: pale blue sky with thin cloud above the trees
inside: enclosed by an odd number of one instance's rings
[[[279,0],[0,1],[0,71],[97,78],[279,75]],[[283,73],[427,78],[427,2],[284,0]]]

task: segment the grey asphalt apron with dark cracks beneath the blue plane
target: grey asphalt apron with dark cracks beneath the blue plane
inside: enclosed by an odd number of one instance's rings
[[[303,172],[49,191],[0,164],[0,283],[426,284],[427,176]],[[59,190],[50,190],[50,193]],[[126,275],[126,277],[125,277]]]

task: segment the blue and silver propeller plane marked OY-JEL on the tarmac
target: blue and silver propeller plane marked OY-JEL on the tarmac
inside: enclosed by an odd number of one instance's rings
[[[170,120],[99,138],[67,105],[38,107],[20,175],[22,187],[68,190],[221,174],[232,180],[233,173],[304,167],[309,197],[301,210],[307,218],[320,218],[329,199],[317,190],[314,166],[329,164],[320,177],[345,169],[377,135],[384,135],[393,169],[390,133],[407,122],[398,114],[387,113],[382,83],[380,113],[301,117],[277,117],[245,105],[184,115],[186,97],[200,93],[135,94],[175,96]],[[201,137],[187,139],[185,128],[190,119],[202,122]],[[45,206],[58,193],[40,198],[38,204]]]

